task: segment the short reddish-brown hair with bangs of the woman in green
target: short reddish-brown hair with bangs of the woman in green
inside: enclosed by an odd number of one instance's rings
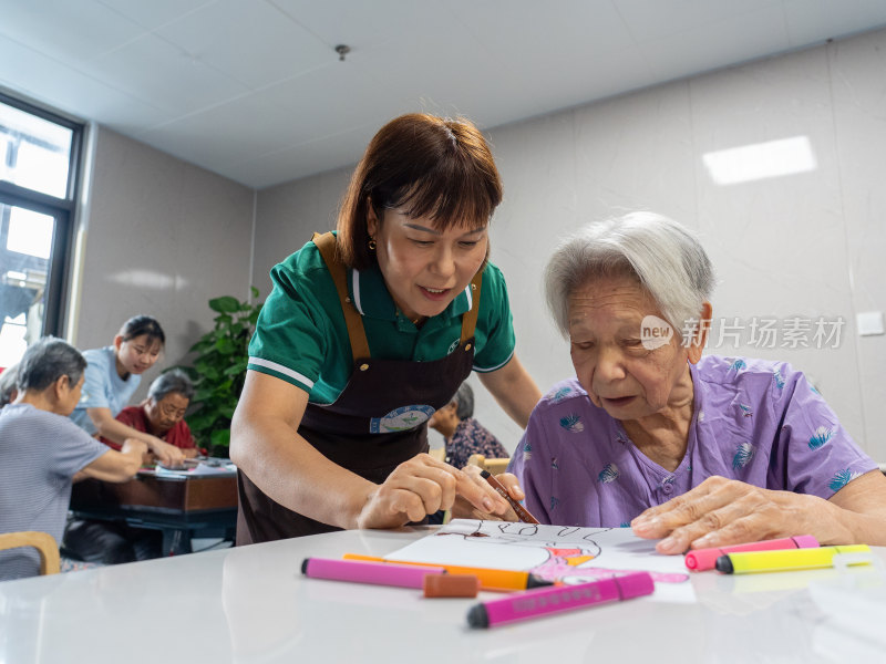
[[[429,217],[437,229],[485,225],[502,201],[502,180],[485,138],[470,121],[410,113],[384,125],[351,176],[338,221],[344,264],[365,269],[369,205],[379,220],[400,208]]]

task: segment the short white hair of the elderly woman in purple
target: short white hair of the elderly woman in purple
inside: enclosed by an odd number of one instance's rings
[[[682,339],[711,299],[714,272],[689,230],[661,215],[631,212],[589,224],[564,239],[545,269],[545,294],[560,333],[569,333],[569,297],[588,281],[632,277]]]

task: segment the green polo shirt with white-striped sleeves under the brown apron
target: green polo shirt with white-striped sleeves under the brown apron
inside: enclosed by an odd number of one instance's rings
[[[459,346],[462,314],[472,303],[470,286],[419,329],[398,311],[378,267],[347,272],[348,291],[362,315],[373,357],[430,362]],[[274,290],[249,342],[248,367],[301,387],[311,403],[331,404],[344,390],[353,361],[338,292],[317,246],[305,245],[275,266],[270,278]],[[474,371],[507,364],[514,343],[505,280],[488,263],[474,332]]]

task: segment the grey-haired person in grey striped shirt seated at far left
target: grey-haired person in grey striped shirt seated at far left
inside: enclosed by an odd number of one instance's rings
[[[125,481],[147,446],[127,439],[107,449],[68,416],[80,401],[83,355],[61,339],[41,339],[19,363],[16,401],[0,411],[0,532],[39,530],[61,541],[76,474]],[[33,577],[33,549],[0,552],[0,580]]]

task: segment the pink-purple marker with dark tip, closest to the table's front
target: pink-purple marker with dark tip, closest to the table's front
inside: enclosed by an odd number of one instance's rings
[[[515,592],[501,600],[474,604],[467,612],[467,624],[472,627],[494,627],[604,602],[629,600],[651,594],[655,589],[656,584],[649,572],[631,572],[588,583]]]

